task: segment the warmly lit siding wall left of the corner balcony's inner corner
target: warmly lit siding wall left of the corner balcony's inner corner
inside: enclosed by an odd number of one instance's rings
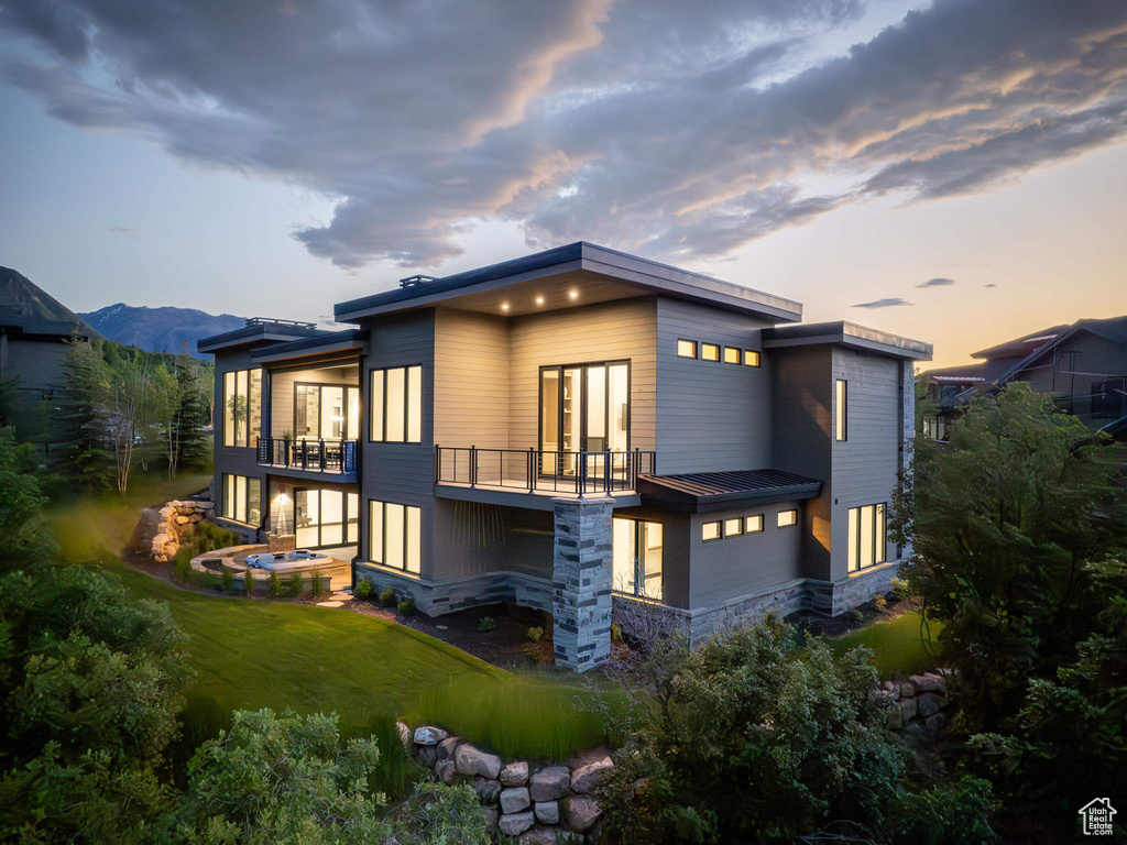
[[[508,448],[508,319],[437,309],[434,442]]]

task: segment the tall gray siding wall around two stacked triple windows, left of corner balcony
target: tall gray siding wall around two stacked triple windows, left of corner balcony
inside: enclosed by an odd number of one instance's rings
[[[421,577],[442,577],[441,553],[434,540],[434,309],[379,318],[365,323],[371,330],[362,365],[361,438],[361,558],[369,559],[369,501],[393,501],[420,509]],[[372,443],[371,371],[392,366],[423,366],[423,430],[420,444]]]

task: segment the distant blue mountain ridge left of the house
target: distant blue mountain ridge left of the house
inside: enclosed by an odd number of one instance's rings
[[[196,340],[231,329],[241,329],[247,321],[232,314],[208,314],[194,308],[147,308],[144,305],[116,305],[79,314],[90,326],[110,340],[135,346],[149,352],[178,355],[187,344],[188,353],[196,357]]]

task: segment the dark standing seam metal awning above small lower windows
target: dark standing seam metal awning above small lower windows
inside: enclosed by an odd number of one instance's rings
[[[822,492],[820,481],[781,470],[639,475],[636,487],[642,505],[696,514],[813,499]]]

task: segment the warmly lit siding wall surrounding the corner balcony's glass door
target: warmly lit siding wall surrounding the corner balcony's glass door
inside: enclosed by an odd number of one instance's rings
[[[630,448],[654,448],[655,302],[644,296],[511,319],[509,448],[539,444],[541,366],[620,359],[630,361]]]

